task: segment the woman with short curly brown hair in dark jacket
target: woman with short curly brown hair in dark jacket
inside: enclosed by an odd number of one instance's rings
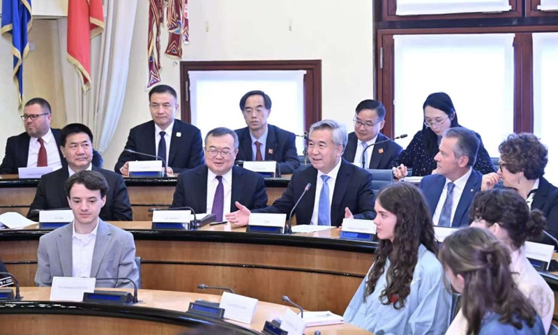
[[[518,191],[529,208],[540,209],[546,218],[545,230],[558,237],[558,188],[543,177],[548,163],[548,149],[530,133],[511,134],[502,142],[497,173],[483,176],[481,190],[489,190],[502,179],[504,186]],[[549,237],[545,244],[556,245]]]

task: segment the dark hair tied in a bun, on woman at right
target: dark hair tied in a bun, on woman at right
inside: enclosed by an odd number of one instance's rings
[[[546,224],[542,211],[529,211],[521,195],[506,188],[476,193],[469,218],[484,220],[488,227],[498,223],[508,232],[515,248],[520,248],[528,239],[540,239]]]

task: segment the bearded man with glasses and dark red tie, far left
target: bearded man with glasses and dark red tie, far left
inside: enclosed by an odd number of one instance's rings
[[[25,104],[22,120],[25,132],[8,138],[0,174],[17,174],[18,168],[50,166],[52,170],[66,167],[60,147],[60,129],[50,128],[52,110],[43,98]],[[93,165],[103,167],[103,157],[93,150]]]

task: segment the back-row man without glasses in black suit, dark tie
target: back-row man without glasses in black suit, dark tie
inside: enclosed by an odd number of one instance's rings
[[[176,91],[167,85],[158,85],[149,91],[149,109],[153,120],[130,130],[128,142],[114,171],[128,176],[129,161],[156,159],[132,154],[126,149],[163,158],[168,173],[180,173],[203,165],[202,133],[195,126],[174,119],[179,109],[177,99]]]

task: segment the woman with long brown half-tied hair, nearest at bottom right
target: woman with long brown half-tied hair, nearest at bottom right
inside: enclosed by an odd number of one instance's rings
[[[444,240],[439,260],[451,286],[462,295],[465,334],[546,334],[541,318],[513,281],[509,248],[490,232],[458,230]]]

